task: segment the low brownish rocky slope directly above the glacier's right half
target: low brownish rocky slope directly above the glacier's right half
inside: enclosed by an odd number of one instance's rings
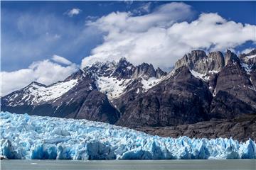
[[[246,141],[249,138],[256,140],[256,115],[240,115],[232,120],[212,120],[190,125],[178,125],[171,127],[139,127],[135,128],[151,135],[162,137],[206,137],[215,139],[217,137],[230,138]]]

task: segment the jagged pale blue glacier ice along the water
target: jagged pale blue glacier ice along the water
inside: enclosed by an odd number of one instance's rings
[[[0,113],[9,159],[255,159],[252,140],[159,137],[88,120]]]

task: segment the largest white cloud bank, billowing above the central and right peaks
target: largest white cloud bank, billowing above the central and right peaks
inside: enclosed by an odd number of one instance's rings
[[[193,14],[191,6],[174,2],[144,16],[116,12],[87,23],[106,35],[81,67],[127,57],[133,64],[149,62],[166,69],[191,50],[225,50],[256,42],[256,26],[227,21],[218,13],[201,13],[198,18]]]

